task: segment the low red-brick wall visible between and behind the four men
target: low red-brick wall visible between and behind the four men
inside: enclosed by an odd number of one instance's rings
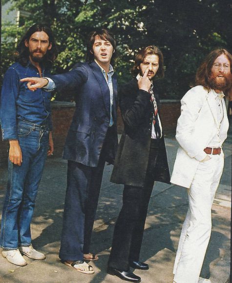
[[[75,111],[74,102],[52,102],[54,155],[61,156],[63,144]],[[166,136],[173,136],[176,130],[176,122],[180,116],[180,101],[162,100],[160,107],[162,126]],[[123,131],[123,121],[118,109],[118,132]],[[7,163],[8,142],[0,141],[0,166]]]

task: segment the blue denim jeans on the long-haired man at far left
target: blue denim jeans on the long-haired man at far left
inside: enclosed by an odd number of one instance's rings
[[[1,219],[0,246],[17,249],[31,243],[30,223],[45,164],[49,132],[45,126],[18,123],[21,166],[8,161],[8,183]]]

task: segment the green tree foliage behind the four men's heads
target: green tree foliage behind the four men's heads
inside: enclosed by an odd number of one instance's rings
[[[6,0],[5,0],[6,1]],[[197,67],[216,47],[232,51],[231,0],[17,0],[30,12],[24,26],[2,29],[2,71],[11,63],[15,37],[33,22],[51,25],[59,46],[54,73],[84,61],[86,35],[96,27],[110,29],[117,40],[115,70],[119,83],[131,78],[134,54],[157,45],[164,53],[165,79],[156,82],[163,98],[181,98],[194,84]],[[33,19],[33,20],[31,20]],[[70,99],[57,94],[56,99]]]

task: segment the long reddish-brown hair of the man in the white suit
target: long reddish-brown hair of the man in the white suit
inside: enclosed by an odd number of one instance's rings
[[[232,73],[232,55],[223,48],[218,48],[211,51],[210,54],[207,55],[205,60],[202,62],[200,67],[196,72],[195,83],[196,85],[204,86],[208,91],[210,91],[210,76],[212,65],[220,55],[224,54],[231,64],[231,73]]]

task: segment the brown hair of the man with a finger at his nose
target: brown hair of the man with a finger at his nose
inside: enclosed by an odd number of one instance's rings
[[[157,70],[156,76],[158,78],[164,78],[164,56],[161,50],[154,45],[143,47],[135,56],[134,67],[132,73],[137,76],[140,72],[140,64],[143,63],[147,55],[157,55],[159,57],[159,68]]]

